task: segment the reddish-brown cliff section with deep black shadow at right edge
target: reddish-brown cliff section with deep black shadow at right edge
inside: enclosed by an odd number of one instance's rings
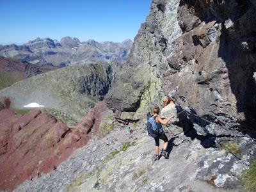
[[[248,127],[256,104],[255,7],[180,1],[178,19],[183,34],[161,63],[164,92],[176,89],[177,100],[220,125]]]

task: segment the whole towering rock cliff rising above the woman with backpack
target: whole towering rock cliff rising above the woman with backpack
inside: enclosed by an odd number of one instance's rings
[[[253,1],[153,1],[109,106],[138,119],[163,90],[200,116],[244,129],[255,121],[255,21]]]

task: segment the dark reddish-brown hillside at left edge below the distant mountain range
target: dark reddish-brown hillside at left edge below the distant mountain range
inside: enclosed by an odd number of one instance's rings
[[[0,57],[0,89],[11,86],[17,81],[54,69],[56,69],[56,67],[50,65],[33,65],[28,62]]]

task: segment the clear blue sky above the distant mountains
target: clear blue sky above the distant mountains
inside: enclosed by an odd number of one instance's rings
[[[63,36],[121,42],[137,34],[151,0],[0,0],[0,44]]]

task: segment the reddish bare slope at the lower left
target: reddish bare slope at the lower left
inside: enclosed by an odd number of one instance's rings
[[[24,180],[48,173],[67,159],[72,152],[88,143],[97,132],[104,114],[99,102],[83,120],[70,129],[61,120],[31,110],[17,115],[11,109],[0,111],[0,189],[15,189]]]

